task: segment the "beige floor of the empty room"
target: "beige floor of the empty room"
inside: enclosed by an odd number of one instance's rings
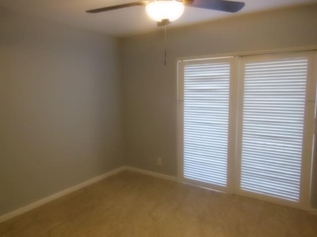
[[[124,171],[0,224],[0,237],[317,237],[317,216]]]

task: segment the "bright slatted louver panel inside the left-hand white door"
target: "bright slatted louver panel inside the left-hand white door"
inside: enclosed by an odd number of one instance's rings
[[[227,185],[230,63],[184,67],[183,175]]]

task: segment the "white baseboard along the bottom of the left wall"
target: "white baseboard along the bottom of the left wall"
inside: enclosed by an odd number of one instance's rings
[[[15,216],[21,215],[24,212],[30,211],[30,210],[32,210],[32,209],[34,209],[36,207],[42,206],[45,203],[48,203],[50,201],[53,201],[54,199],[57,199],[58,197],[65,196],[65,195],[70,194],[70,193],[72,193],[74,191],[77,191],[77,190],[79,190],[81,188],[84,188],[84,187],[86,187],[86,186],[88,186],[90,184],[96,183],[96,182],[98,182],[98,181],[100,181],[102,179],[105,179],[106,177],[109,177],[111,175],[119,173],[119,172],[121,172],[121,171],[123,171],[125,169],[126,169],[125,166],[119,167],[117,169],[114,169],[114,170],[111,170],[109,172],[106,172],[105,174],[102,174],[102,175],[99,175],[99,176],[97,176],[95,178],[87,180],[87,181],[85,181],[83,183],[80,183],[80,184],[77,184],[77,185],[72,186],[70,188],[64,189],[64,190],[62,190],[62,191],[60,191],[60,192],[58,192],[56,194],[53,194],[53,195],[51,195],[49,197],[45,197],[43,199],[35,201],[35,202],[33,202],[33,203],[31,203],[31,204],[29,204],[27,206],[21,207],[21,208],[19,208],[17,210],[14,210],[12,212],[4,214],[3,216],[0,216],[0,223],[6,221],[8,219],[11,219],[11,218],[13,218]]]

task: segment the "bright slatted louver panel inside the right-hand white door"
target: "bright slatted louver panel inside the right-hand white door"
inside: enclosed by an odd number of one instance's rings
[[[298,202],[308,59],[244,64],[240,188]]]

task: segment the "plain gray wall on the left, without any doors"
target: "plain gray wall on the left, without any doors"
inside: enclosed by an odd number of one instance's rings
[[[124,163],[117,41],[0,8],[0,215]]]

